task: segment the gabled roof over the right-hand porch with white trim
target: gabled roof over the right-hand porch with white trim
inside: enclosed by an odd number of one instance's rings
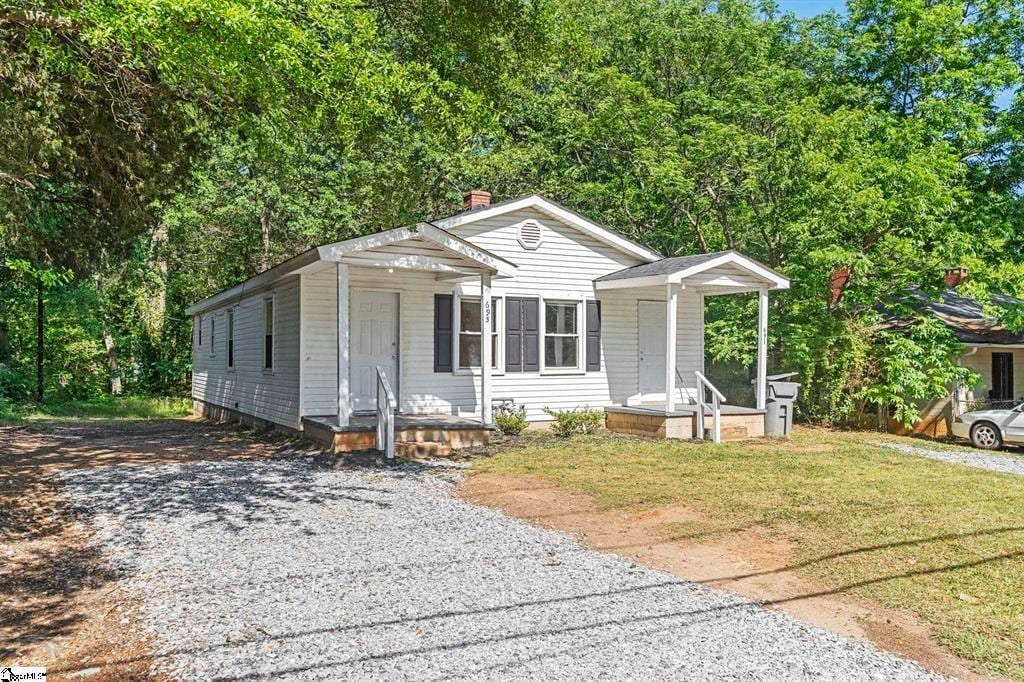
[[[693,285],[709,293],[788,289],[790,280],[738,251],[663,258],[616,270],[594,281],[598,291]]]

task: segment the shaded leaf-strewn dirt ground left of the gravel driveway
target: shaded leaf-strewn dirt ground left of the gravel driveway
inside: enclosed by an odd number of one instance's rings
[[[0,663],[49,679],[161,679],[137,604],[63,495],[59,473],[294,454],[194,420],[0,426]]]

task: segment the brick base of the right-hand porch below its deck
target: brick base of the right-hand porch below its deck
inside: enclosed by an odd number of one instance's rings
[[[735,408],[723,409],[722,440],[759,438],[765,434],[763,410]],[[648,438],[696,438],[697,416],[693,411],[681,410],[667,413],[654,408],[605,408],[605,427],[614,433],[645,436]],[[705,430],[713,426],[711,416],[705,417]]]

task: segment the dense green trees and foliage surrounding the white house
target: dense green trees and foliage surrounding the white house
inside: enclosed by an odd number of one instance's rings
[[[802,416],[912,420],[957,377],[955,346],[885,336],[880,309],[911,285],[937,295],[949,265],[984,301],[1024,295],[1022,14],[16,0],[0,13],[0,394],[182,394],[187,304],[482,187],[667,255],[762,260],[793,279],[771,357],[800,372]],[[750,364],[751,312],[712,301],[709,353]]]

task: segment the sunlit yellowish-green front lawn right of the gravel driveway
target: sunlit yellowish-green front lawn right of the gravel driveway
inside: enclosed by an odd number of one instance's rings
[[[604,509],[685,505],[707,519],[690,537],[762,526],[792,541],[793,565],[824,587],[911,610],[954,653],[1024,680],[1024,477],[868,444],[878,439],[536,439],[474,471],[540,476]]]

